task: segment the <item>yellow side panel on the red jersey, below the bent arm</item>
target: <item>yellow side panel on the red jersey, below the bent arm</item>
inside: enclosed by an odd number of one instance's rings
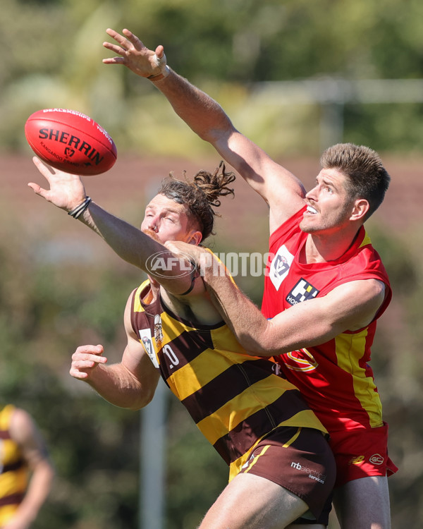
[[[354,334],[339,334],[336,336],[336,356],[338,366],[353,377],[354,394],[360,401],[364,411],[369,415],[372,428],[383,425],[382,405],[372,377],[367,377],[360,367],[360,358],[351,355],[351,351],[365,351],[367,328]]]

